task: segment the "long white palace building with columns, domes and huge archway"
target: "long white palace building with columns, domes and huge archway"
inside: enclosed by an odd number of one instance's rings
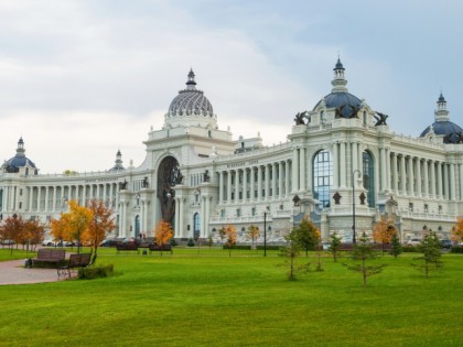
[[[348,91],[338,59],[331,93],[295,116],[286,143],[233,139],[191,71],[162,129],[143,142],[139,167],[125,167],[118,151],[103,172],[41,174],[20,139],[0,173],[0,209],[3,218],[46,221],[69,199],[97,198],[114,209],[120,238],[152,236],[164,219],[176,239],[215,238],[229,224],[243,235],[252,224],[278,242],[303,215],[325,239],[336,231],[352,241],[381,216],[394,218],[403,241],[429,229],[449,237],[463,215],[462,128],[442,95],[418,138],[392,132],[387,118]]]

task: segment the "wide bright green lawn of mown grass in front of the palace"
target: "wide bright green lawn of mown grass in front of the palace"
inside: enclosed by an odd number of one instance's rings
[[[385,256],[376,261],[389,265],[369,278],[367,288],[329,254],[323,272],[294,282],[287,280],[276,251],[267,258],[241,250],[229,258],[228,250],[214,248],[162,257],[116,256],[114,249],[98,254],[118,275],[0,286],[0,345],[460,346],[463,340],[462,254],[444,254],[444,268],[429,279],[410,267],[417,254]]]

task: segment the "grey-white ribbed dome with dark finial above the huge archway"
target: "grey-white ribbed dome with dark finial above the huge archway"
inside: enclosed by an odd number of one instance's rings
[[[202,90],[196,89],[193,69],[189,73],[186,89],[180,90],[169,107],[169,115],[172,116],[205,116],[213,117],[214,111],[209,100]]]

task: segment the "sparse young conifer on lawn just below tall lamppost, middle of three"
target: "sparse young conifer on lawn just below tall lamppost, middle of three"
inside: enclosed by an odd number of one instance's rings
[[[352,271],[359,272],[363,276],[364,286],[367,284],[367,278],[383,271],[383,268],[387,267],[387,264],[380,265],[367,265],[367,260],[372,260],[376,258],[376,253],[373,250],[373,245],[368,242],[368,237],[365,232],[362,234],[362,237],[357,243],[354,243],[354,250],[352,252],[352,258],[354,261],[360,261],[359,264],[355,265],[347,265],[347,268]]]

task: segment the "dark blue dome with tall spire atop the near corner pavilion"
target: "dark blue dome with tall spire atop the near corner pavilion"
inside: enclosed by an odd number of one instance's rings
[[[326,95],[321,101],[319,101],[313,110],[315,110],[322,101],[325,102],[326,108],[335,108],[336,117],[338,118],[353,118],[356,117],[358,109],[360,108],[362,101],[355,95],[347,91],[347,80],[344,78],[344,66],[341,59],[337,58],[337,63],[334,67],[334,78],[332,80],[333,89],[331,94]]]

